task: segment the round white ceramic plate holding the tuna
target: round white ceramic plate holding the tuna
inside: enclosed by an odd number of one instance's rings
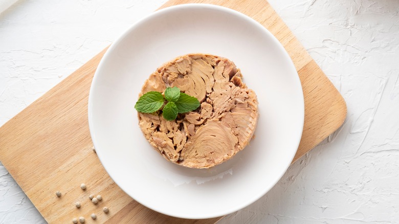
[[[166,161],[142,135],[134,109],[144,80],[188,53],[234,61],[259,100],[256,138],[210,169]],[[294,64],[269,31],[239,12],[188,4],[152,13],[112,44],[93,79],[88,118],[101,163],[128,195],[170,216],[210,218],[250,205],[278,182],[298,148],[304,104]]]

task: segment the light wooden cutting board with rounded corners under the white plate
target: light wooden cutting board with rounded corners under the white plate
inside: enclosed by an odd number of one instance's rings
[[[342,96],[267,1],[171,0],[161,8],[185,3],[221,5],[247,14],[290,54],[305,100],[304,129],[294,161],[341,126],[346,117]],[[92,151],[87,123],[88,92],[104,52],[0,128],[0,160],[49,223],[72,223],[79,216],[85,223],[214,223],[219,218],[189,220],[154,212],[125,194],[105,172]],[[80,189],[81,183],[86,190]],[[56,197],[56,191],[62,196]],[[94,205],[90,194],[103,199]],[[75,201],[81,202],[80,209]],[[92,213],[97,214],[96,221],[90,218]]]

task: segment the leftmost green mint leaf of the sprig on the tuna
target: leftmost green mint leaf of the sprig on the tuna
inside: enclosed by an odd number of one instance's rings
[[[151,91],[139,98],[135,108],[141,113],[153,113],[164,105],[164,101],[165,99],[160,92]]]

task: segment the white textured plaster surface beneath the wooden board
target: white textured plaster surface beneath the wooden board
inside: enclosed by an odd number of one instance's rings
[[[17,1],[0,14],[0,125],[165,2]],[[348,115],[269,193],[219,223],[399,223],[399,1],[269,2]],[[45,222],[0,164],[0,223]]]

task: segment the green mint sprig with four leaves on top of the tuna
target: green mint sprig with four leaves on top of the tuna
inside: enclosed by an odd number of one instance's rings
[[[200,101],[197,98],[180,93],[178,87],[167,87],[164,95],[167,103],[162,109],[162,115],[168,121],[176,119],[179,113],[187,113],[200,106]],[[139,98],[135,108],[141,113],[154,113],[164,105],[165,98],[160,92],[151,91]]]

